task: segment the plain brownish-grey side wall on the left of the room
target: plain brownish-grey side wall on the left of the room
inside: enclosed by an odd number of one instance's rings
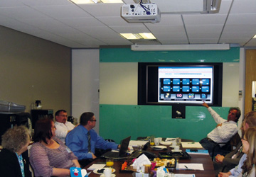
[[[0,100],[70,113],[70,48],[0,26]]]

